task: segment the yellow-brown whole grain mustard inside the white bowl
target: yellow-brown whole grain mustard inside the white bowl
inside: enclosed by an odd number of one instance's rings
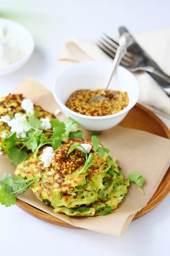
[[[96,96],[102,94],[109,98],[102,102],[95,101],[88,103],[88,101]],[[114,113],[118,113],[127,107],[129,104],[129,97],[127,92],[108,90],[108,92],[102,92],[99,90],[77,90],[71,94],[66,106],[72,111],[86,116],[108,116]]]

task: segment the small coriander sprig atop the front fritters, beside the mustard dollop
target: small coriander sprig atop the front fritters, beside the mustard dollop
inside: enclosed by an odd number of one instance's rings
[[[98,164],[92,163],[92,160],[94,159],[95,154],[98,154],[100,158],[103,158],[105,152],[106,153],[110,152],[110,150],[108,148],[102,148],[102,147],[99,146],[100,141],[99,141],[99,138],[97,138],[96,136],[93,135],[91,137],[91,140],[92,140],[92,143],[93,143],[93,146],[94,146],[94,153],[90,153],[88,155],[85,148],[82,147],[81,143],[76,143],[76,144],[72,145],[68,150],[67,155],[69,155],[77,147],[81,147],[83,149],[83,153],[84,153],[84,156],[85,156],[85,165],[83,166],[81,171],[78,173],[78,175],[81,174],[81,173],[86,172],[87,169],[90,166],[99,166]]]

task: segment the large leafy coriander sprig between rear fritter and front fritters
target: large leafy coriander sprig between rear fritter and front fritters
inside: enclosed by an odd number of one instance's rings
[[[62,146],[62,141],[67,137],[82,138],[82,131],[70,131],[77,129],[77,122],[71,117],[64,122],[58,119],[49,121],[51,129],[42,128],[42,121],[35,116],[28,116],[27,121],[22,122],[25,138],[17,138],[17,134],[11,133],[2,141],[0,147],[5,147],[5,152],[11,158],[11,164],[17,166],[21,161],[28,159],[28,153],[33,152],[37,157],[38,150],[44,145],[51,145],[54,150]]]

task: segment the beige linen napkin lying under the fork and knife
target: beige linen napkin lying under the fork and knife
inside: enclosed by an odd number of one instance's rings
[[[153,60],[170,74],[170,29],[147,32],[136,35],[136,40],[144,48]],[[65,42],[58,56],[59,61],[73,64],[80,61],[108,61],[111,62],[95,44],[96,40],[71,38]],[[164,93],[159,85],[146,72],[133,73],[141,88],[139,103],[170,118],[170,98]]]

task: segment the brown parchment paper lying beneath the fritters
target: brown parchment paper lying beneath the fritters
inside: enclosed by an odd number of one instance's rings
[[[59,108],[51,91],[30,77],[24,79],[13,93],[23,93],[26,98],[31,99],[36,105],[41,105],[49,112],[54,112]],[[58,115],[59,120],[63,118],[63,113]],[[90,137],[87,131],[84,137]],[[99,138],[101,143],[111,150],[110,155],[116,157],[126,178],[133,170],[141,173],[145,180],[143,186],[145,195],[142,195],[139,188],[132,183],[117,209],[108,215],[94,217],[68,217],[55,213],[52,207],[46,206],[37,199],[31,189],[23,195],[18,195],[18,198],[74,226],[113,236],[122,236],[136,212],[150,200],[170,166],[170,140],[119,126],[102,131]],[[0,156],[0,178],[4,172],[14,173],[15,167],[11,166],[10,161],[5,154]]]

